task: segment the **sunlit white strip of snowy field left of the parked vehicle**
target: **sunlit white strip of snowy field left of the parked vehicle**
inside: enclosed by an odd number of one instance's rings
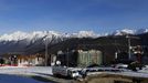
[[[0,74],[52,75],[51,66],[0,66]]]

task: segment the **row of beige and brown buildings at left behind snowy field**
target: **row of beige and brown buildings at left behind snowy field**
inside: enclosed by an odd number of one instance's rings
[[[34,65],[44,65],[44,55],[42,54],[6,54],[2,55],[4,60],[4,65],[14,65],[14,66],[34,66]]]

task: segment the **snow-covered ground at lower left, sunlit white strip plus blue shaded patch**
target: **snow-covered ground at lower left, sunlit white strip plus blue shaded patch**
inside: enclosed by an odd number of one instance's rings
[[[17,75],[52,74],[50,66],[0,66],[0,83],[43,83]]]

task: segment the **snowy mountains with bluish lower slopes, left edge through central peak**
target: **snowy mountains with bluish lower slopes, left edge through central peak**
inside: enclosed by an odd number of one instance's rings
[[[54,44],[70,38],[97,38],[93,31],[80,31],[77,33],[60,33],[56,31],[17,31],[0,35],[0,53],[25,52],[31,49],[43,49],[45,43]]]

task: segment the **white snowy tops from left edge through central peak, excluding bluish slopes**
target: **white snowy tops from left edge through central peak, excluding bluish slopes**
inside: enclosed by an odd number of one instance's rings
[[[41,38],[97,38],[98,34],[94,33],[93,31],[80,31],[78,33],[60,33],[56,31],[34,31],[34,32],[22,32],[17,31],[10,34],[3,34],[0,37],[0,41],[20,41],[20,40],[28,40],[35,41]]]

